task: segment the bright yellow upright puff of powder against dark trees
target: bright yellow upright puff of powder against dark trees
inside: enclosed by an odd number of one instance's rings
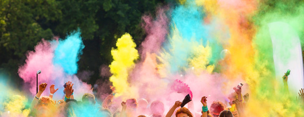
[[[114,60],[109,65],[110,72],[113,74],[110,77],[110,81],[113,83],[117,94],[122,95],[122,93],[128,92],[128,72],[132,69],[134,60],[136,60],[139,55],[135,49],[136,44],[128,33],[117,39],[116,46],[117,49],[111,50],[111,55]]]

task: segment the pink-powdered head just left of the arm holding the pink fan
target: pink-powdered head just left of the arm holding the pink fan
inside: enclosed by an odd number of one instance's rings
[[[155,116],[161,117],[163,115],[163,113],[165,112],[164,103],[159,100],[153,101],[150,105],[150,109],[151,109],[153,117],[155,117]]]

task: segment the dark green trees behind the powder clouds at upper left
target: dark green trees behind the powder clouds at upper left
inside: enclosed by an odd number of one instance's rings
[[[93,71],[89,83],[99,77],[100,65],[112,61],[110,50],[117,38],[129,32],[136,44],[144,39],[141,16],[154,13],[163,0],[0,0],[0,71],[22,81],[18,66],[41,39],[64,38],[80,28],[84,54],[79,71]],[[138,46],[137,46],[138,47]]]

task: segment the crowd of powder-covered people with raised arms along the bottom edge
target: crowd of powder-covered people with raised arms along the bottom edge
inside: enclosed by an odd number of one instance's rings
[[[283,79],[287,86],[287,77]],[[182,102],[177,100],[173,102],[173,106],[165,115],[165,106],[159,100],[152,101],[150,104],[144,98],[136,100],[135,98],[127,99],[121,102],[121,107],[110,109],[112,98],[115,93],[113,92],[104,99],[100,107],[95,106],[96,101],[93,94],[84,94],[82,100],[75,100],[73,97],[73,83],[68,81],[65,83],[65,96],[61,100],[53,100],[52,97],[58,89],[55,85],[50,86],[50,95],[48,97],[41,97],[47,84],[42,83],[39,85],[39,92],[34,97],[31,103],[31,112],[29,116],[32,117],[195,117],[186,107],[181,106]],[[115,90],[114,87],[111,89]],[[234,87],[234,93],[231,94],[229,99],[229,106],[221,101],[213,101],[210,107],[207,106],[207,97],[202,96],[201,114],[200,117],[245,117],[246,104],[249,100],[249,94],[242,95],[241,87]],[[303,89],[300,90],[299,98],[304,97]],[[191,102],[197,103],[197,102]],[[189,103],[189,104],[191,104]],[[188,107],[191,105],[188,104]],[[149,106],[148,106],[149,105]],[[148,108],[149,107],[149,108]],[[177,110],[176,110],[177,109]],[[176,111],[175,111],[176,110]]]

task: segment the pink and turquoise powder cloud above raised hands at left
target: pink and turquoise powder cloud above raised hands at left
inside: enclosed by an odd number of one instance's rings
[[[59,88],[54,98],[63,97],[63,85],[67,81],[74,83],[74,96],[81,99],[85,93],[92,93],[89,85],[81,81],[75,75],[78,70],[77,61],[79,55],[82,54],[84,48],[80,37],[80,31],[74,31],[66,37],[66,39],[54,39],[51,41],[42,40],[35,46],[35,51],[27,54],[25,64],[20,66],[19,76],[30,83],[30,92],[36,94],[36,72],[41,70],[39,74],[38,84],[46,82],[48,86],[55,84],[55,88]],[[43,92],[48,94],[49,89]]]

